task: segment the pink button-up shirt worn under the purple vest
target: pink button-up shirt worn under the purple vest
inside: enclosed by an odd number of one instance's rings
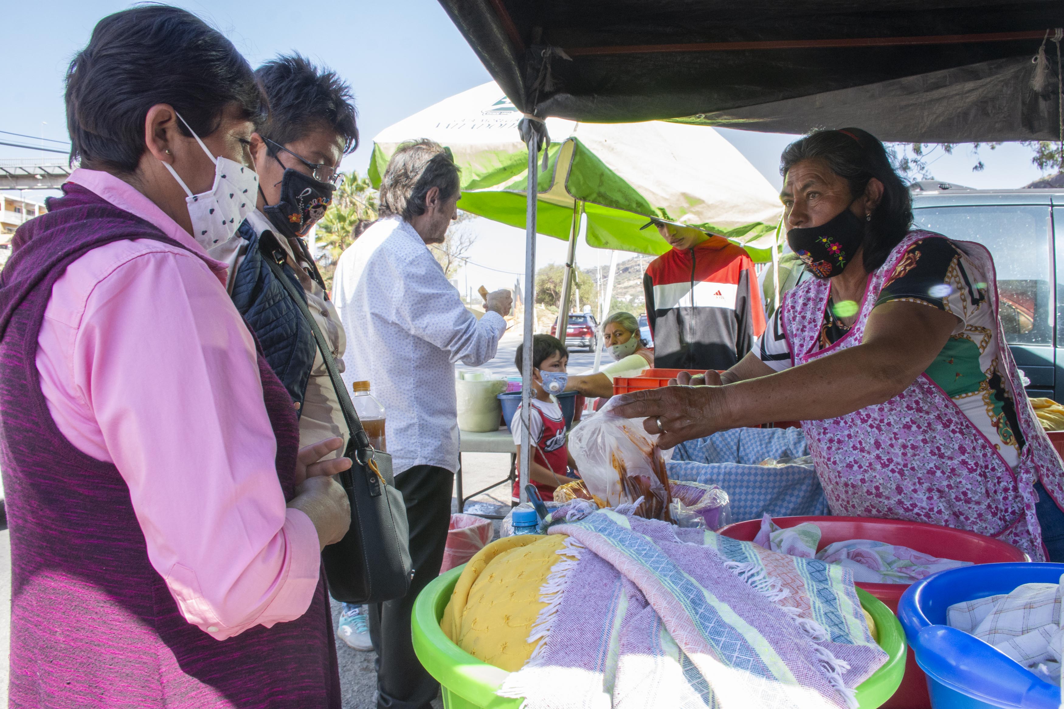
[[[56,425],[112,462],[152,567],[189,623],[218,640],[302,615],[318,536],[285,507],[254,341],[226,292],[226,266],[121,180],[70,182],[195,253],[149,239],[94,249],[52,287],[37,338]]]

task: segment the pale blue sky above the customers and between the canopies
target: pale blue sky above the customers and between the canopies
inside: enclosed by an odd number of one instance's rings
[[[491,79],[436,0],[214,0],[174,4],[220,29],[253,66],[279,52],[298,50],[347,79],[356,96],[363,137],[362,148],[345,161],[347,169],[365,170],[372,137],[385,126]],[[65,140],[66,66],[87,41],[97,20],[128,6],[128,2],[85,0],[9,3],[4,9],[7,32],[0,130]],[[794,136],[721,133],[769,182],[779,186],[779,154]],[[0,146],[0,158],[6,157],[49,154]],[[1030,151],[1016,145],[995,151],[984,149],[979,157],[986,169],[972,173],[977,158],[962,146],[953,155],[937,159],[932,165],[933,174],[938,180],[972,187],[1020,187],[1040,175],[1030,164]],[[52,154],[50,158],[62,156]],[[492,223],[477,229],[480,237],[470,258],[498,269],[521,270],[523,232]],[[564,258],[562,242],[549,238],[541,241],[539,264]],[[582,265],[594,266],[599,257],[609,258],[584,246],[578,251]],[[513,283],[512,275],[475,268],[470,268],[469,280],[478,285],[483,282],[489,288]]]

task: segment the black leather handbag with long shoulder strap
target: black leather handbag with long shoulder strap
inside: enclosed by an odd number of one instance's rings
[[[286,252],[277,238],[272,232],[264,231],[259,235],[259,250],[310,324],[351,433],[344,452],[351,459],[351,467],[339,474],[351,503],[351,528],[344,539],[321,552],[329,592],[336,601],[345,603],[400,598],[410,589],[413,571],[406,506],[394,484],[392,456],[375,451],[369,444],[369,437],[336,369],[329,342],[306,306],[306,294],[282,268]]]

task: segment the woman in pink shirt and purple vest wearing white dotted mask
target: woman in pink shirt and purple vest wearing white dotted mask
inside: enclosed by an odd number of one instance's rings
[[[254,205],[251,68],[174,7],[102,19],[73,157],[0,276],[13,707],[339,707],[346,493],[206,249]]]

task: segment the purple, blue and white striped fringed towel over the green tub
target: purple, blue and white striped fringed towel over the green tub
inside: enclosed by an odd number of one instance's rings
[[[539,644],[499,692],[526,709],[853,709],[886,661],[841,567],[611,510],[550,534]]]

